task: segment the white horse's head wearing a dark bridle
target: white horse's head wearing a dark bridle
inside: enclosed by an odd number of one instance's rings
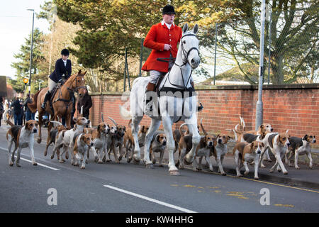
[[[197,23],[192,31],[188,30],[189,26],[186,23],[183,27],[183,34],[181,36],[182,55],[184,55],[184,61],[186,60],[187,62],[189,62],[189,65],[191,65],[192,69],[196,69],[196,67],[198,67],[199,63],[201,62],[198,52],[199,41],[196,37],[196,34],[198,33]]]

